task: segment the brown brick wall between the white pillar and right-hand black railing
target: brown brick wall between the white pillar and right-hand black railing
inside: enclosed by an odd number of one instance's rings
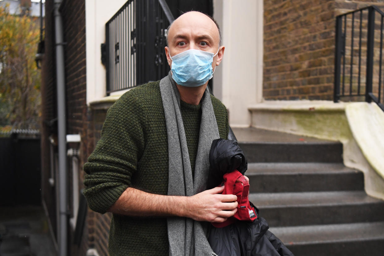
[[[263,97],[333,100],[336,15],[383,2],[265,0]]]

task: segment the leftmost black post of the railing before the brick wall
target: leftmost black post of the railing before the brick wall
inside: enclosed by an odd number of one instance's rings
[[[333,101],[339,102],[340,100],[340,66],[341,66],[341,45],[342,45],[342,16],[336,17],[336,35],[335,35],[335,67],[334,67],[334,92]]]

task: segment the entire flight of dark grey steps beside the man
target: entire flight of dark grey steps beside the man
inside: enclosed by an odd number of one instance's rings
[[[295,256],[384,256],[384,201],[364,192],[343,146],[282,132],[233,129],[248,160],[250,195]]]

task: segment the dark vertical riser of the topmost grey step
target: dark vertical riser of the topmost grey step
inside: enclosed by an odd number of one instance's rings
[[[339,142],[239,142],[248,163],[342,163],[343,145]]]

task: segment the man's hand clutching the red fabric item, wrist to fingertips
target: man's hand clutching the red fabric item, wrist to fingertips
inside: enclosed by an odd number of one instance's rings
[[[224,222],[237,211],[237,196],[221,195],[224,187],[205,190],[188,197],[185,215],[197,221]]]

